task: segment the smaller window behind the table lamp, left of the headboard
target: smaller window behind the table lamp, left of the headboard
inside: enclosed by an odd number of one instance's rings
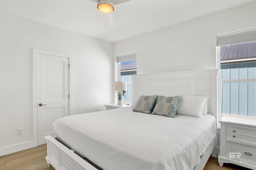
[[[137,74],[136,53],[117,56],[118,81],[127,82],[127,91],[122,96],[124,104],[132,103],[132,80],[131,75]]]

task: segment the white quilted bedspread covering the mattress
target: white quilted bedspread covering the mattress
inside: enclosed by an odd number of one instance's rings
[[[192,170],[216,135],[212,115],[176,118],[130,107],[58,119],[64,142],[104,170]]]

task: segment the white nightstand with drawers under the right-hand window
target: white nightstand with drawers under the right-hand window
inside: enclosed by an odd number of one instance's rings
[[[220,119],[218,162],[256,170],[256,120],[234,117]]]

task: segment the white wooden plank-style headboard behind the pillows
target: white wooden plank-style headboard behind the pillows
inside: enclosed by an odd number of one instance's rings
[[[213,69],[132,75],[132,102],[136,104],[141,95],[210,96],[207,113],[217,119],[218,72]]]

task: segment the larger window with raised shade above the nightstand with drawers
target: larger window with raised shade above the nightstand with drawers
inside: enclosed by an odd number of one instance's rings
[[[256,29],[217,36],[217,51],[219,119],[222,116],[256,119]]]

